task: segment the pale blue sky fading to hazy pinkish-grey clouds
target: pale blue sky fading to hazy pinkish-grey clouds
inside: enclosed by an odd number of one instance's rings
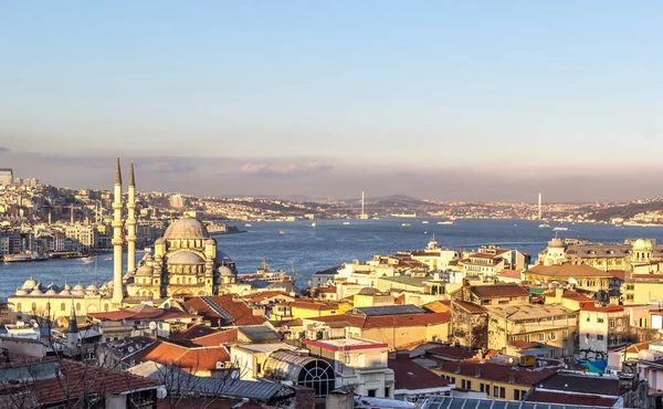
[[[663,196],[663,2],[2,1],[0,167],[109,189]],[[128,168],[126,169],[128,170]]]

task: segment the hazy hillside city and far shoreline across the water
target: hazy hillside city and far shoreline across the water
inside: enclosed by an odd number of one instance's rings
[[[112,201],[109,190],[53,187],[40,183],[36,178],[17,177],[12,169],[0,169],[0,255],[110,249]],[[235,232],[236,227],[228,221],[389,217],[536,220],[539,207],[538,203],[420,200],[407,196],[369,197],[362,202],[362,199],[288,201],[137,192],[137,244],[151,244],[173,218],[183,213],[204,221],[215,232]],[[540,214],[544,221],[562,223],[663,224],[663,199],[624,203],[543,202]]]

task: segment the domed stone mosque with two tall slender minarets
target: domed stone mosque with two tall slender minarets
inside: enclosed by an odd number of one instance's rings
[[[113,280],[101,286],[44,285],[32,277],[8,297],[9,305],[23,318],[31,316],[67,317],[72,308],[78,314],[113,311],[140,303],[161,306],[185,296],[218,295],[223,285],[235,283],[236,270],[217,247],[207,228],[185,214],[171,223],[136,266],[136,179],[131,162],[123,222],[122,170],[115,167],[113,201]],[[127,273],[123,274],[123,230],[126,227]],[[48,265],[48,264],[46,264]]]

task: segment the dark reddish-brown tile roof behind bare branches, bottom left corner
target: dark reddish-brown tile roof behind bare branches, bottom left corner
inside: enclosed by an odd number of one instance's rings
[[[161,382],[71,360],[60,361],[61,377],[36,380],[31,389],[36,391],[41,405],[73,400],[83,395],[119,395],[141,389],[156,389]]]

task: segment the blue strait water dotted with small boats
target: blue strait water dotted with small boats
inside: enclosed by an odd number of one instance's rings
[[[422,224],[428,220],[429,224]],[[311,274],[354,259],[366,261],[373,254],[389,254],[398,250],[423,249],[431,235],[443,248],[464,250],[496,244],[515,248],[532,254],[533,261],[555,232],[539,229],[532,220],[459,220],[455,224],[440,226],[439,219],[380,219],[352,220],[349,226],[343,220],[318,220],[315,228],[311,222],[253,222],[249,232],[217,237],[220,249],[230,255],[240,273],[255,272],[266,259],[273,270],[291,271],[295,264],[296,283],[306,286]],[[402,223],[411,223],[402,227]],[[243,223],[239,222],[239,227]],[[552,224],[557,226],[556,223]],[[623,227],[610,224],[565,224],[568,231],[557,232],[560,238],[578,238],[598,242],[623,242],[645,235],[663,242],[663,228]],[[283,230],[284,235],[278,234]],[[424,231],[428,234],[424,234]],[[113,276],[113,261],[98,258],[98,282]],[[138,253],[138,258],[143,254]],[[126,263],[126,254],[125,254]],[[72,285],[78,282],[88,285],[95,280],[95,263],[82,260],[49,260],[39,263],[0,264],[0,295],[12,294],[29,277],[44,284],[54,282]]]

